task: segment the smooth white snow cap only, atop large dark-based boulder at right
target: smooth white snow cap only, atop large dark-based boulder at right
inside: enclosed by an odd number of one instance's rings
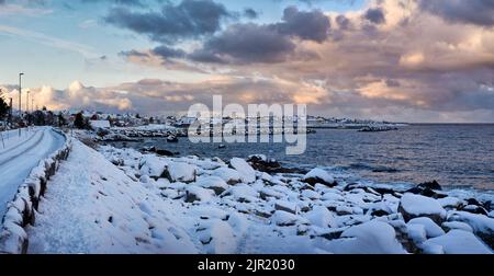
[[[446,218],[446,210],[439,202],[430,197],[407,193],[403,195],[400,204],[407,214],[415,217],[434,215]]]

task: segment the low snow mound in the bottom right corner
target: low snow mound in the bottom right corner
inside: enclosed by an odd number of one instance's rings
[[[492,254],[473,233],[463,230],[451,230],[445,235],[427,240],[425,245],[440,245],[446,254]]]

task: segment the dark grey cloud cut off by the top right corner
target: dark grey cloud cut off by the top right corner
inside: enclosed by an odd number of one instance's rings
[[[451,22],[494,25],[493,0],[418,0],[423,10]]]

